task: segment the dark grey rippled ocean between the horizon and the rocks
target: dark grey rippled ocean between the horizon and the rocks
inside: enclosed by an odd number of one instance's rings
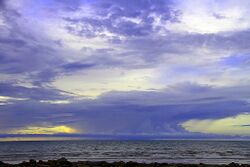
[[[70,161],[250,163],[250,141],[39,141],[0,142],[0,161],[65,157]]]

